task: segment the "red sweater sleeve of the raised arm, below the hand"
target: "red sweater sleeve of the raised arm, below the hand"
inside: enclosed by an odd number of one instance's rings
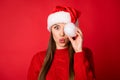
[[[75,80],[94,80],[92,71],[88,71],[88,61],[85,60],[84,52],[74,54]]]

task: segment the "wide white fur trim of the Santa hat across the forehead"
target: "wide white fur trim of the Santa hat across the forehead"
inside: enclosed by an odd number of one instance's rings
[[[48,16],[47,29],[50,31],[50,27],[56,23],[69,23],[71,22],[70,13],[59,11],[52,13]]]

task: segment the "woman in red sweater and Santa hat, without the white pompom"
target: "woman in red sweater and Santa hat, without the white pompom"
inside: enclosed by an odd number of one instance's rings
[[[47,51],[34,55],[28,80],[93,80],[94,70],[90,68],[83,49],[83,35],[76,27],[76,36],[65,34],[66,24],[78,26],[79,12],[70,7],[57,6],[48,16],[50,40]],[[69,26],[68,26],[69,27]]]

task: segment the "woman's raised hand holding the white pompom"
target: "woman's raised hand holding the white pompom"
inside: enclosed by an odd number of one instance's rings
[[[77,28],[75,39],[73,39],[70,36],[68,36],[68,38],[69,38],[75,52],[82,52],[83,35],[82,35],[81,30],[79,28]]]

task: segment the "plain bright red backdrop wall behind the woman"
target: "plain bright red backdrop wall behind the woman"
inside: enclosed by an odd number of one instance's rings
[[[120,0],[1,0],[0,80],[26,80],[32,56],[47,48],[46,20],[55,5],[81,11],[97,80],[120,80]]]

